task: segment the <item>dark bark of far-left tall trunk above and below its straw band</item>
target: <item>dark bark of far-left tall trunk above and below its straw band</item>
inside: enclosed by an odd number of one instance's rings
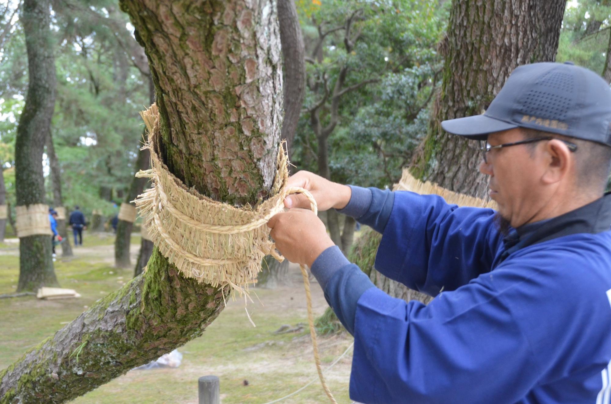
[[[17,206],[45,203],[42,155],[56,94],[49,7],[48,0],[24,0],[23,3],[21,22],[26,37],[29,85],[15,141]],[[51,260],[51,237],[21,237],[17,291],[35,290],[45,285],[57,285]]]

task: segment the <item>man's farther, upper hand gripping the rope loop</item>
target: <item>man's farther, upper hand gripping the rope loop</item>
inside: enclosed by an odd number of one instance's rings
[[[352,196],[352,190],[349,186],[331,182],[309,171],[299,171],[295,175],[291,175],[288,178],[287,186],[308,190],[316,200],[319,211],[326,211],[332,207],[342,209],[348,204]],[[310,209],[310,201],[301,193],[293,193],[284,200],[284,206]]]

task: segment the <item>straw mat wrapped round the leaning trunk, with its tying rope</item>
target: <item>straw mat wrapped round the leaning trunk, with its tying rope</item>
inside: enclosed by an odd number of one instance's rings
[[[188,189],[161,161],[158,150],[161,131],[156,105],[141,115],[148,129],[148,142],[144,148],[150,150],[152,168],[139,171],[136,176],[150,178],[152,187],[134,202],[144,219],[148,236],[159,252],[186,278],[196,278],[199,283],[214,287],[230,286],[240,294],[247,293],[248,284],[257,281],[264,256],[269,254],[280,262],[284,261],[269,239],[268,220],[284,210],[284,199],[290,193],[304,193],[315,213],[316,201],[305,189],[287,187],[288,157],[282,148],[277,157],[272,196],[257,207],[238,208],[204,197],[196,190]],[[327,396],[337,404],[321,369],[310,283],[304,265],[301,265],[301,273],[316,370]]]

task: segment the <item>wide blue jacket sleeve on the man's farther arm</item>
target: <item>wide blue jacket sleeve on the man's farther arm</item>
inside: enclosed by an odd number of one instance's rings
[[[376,270],[431,296],[490,270],[502,246],[495,211],[458,207],[436,195],[394,194]]]

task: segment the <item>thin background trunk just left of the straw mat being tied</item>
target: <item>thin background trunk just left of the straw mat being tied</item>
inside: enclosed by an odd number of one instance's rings
[[[150,154],[148,149],[139,150],[136,161],[136,170],[148,170],[150,165]],[[125,203],[129,203],[135,207],[133,201],[138,195],[144,190],[144,186],[147,184],[148,179],[141,177],[134,178],[131,180],[130,190],[125,198]],[[127,268],[131,266],[130,261],[130,239],[131,230],[134,227],[134,223],[127,222],[126,220],[119,220],[117,223],[117,236],[115,237],[115,267]]]

